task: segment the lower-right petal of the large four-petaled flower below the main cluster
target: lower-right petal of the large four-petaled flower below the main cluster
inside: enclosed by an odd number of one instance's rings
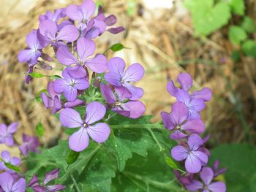
[[[94,126],[88,126],[87,132],[95,142],[105,142],[110,135],[110,128],[106,123],[97,123]]]

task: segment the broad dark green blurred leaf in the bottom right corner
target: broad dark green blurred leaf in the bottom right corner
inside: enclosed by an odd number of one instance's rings
[[[220,145],[211,150],[210,164],[215,159],[227,168],[225,180],[228,191],[255,191],[256,147],[249,144]]]

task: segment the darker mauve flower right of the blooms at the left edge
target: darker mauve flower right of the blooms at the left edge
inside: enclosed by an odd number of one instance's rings
[[[22,134],[22,144],[19,146],[20,152],[26,157],[29,152],[37,153],[37,147],[39,147],[39,141],[37,137],[30,137],[29,135]]]

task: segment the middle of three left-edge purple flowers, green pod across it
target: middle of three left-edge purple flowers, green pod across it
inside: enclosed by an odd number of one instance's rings
[[[20,158],[17,158],[17,157],[11,158],[11,155],[7,150],[3,150],[1,152],[1,157],[3,158],[5,163],[9,163],[9,164],[12,164],[14,166],[20,166],[20,163],[21,163]],[[4,165],[4,162],[2,162],[2,161],[0,162],[0,171],[5,170],[10,174],[15,173],[14,171],[12,171],[11,169],[6,167]]]

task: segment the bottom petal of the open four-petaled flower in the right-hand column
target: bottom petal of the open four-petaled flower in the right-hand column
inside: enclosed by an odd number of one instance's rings
[[[202,167],[202,164],[199,158],[197,158],[197,156],[194,155],[193,153],[189,153],[185,161],[185,168],[187,172],[189,173],[200,172],[201,167]]]

